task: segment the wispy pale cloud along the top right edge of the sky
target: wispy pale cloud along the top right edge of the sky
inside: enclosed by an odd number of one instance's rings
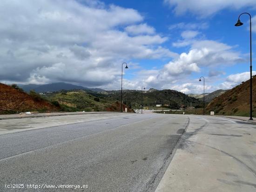
[[[200,17],[211,16],[223,9],[256,8],[255,0],[164,0],[164,2],[169,7],[174,7],[176,15],[189,12]]]

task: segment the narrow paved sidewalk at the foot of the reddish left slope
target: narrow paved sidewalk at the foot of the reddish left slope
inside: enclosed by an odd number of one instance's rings
[[[101,114],[101,113],[119,113],[119,112],[63,112],[63,113],[32,113],[32,114],[10,114],[0,115],[0,120],[4,119],[22,119],[22,118],[33,118],[33,117],[54,117],[64,115],[83,115],[83,114]]]

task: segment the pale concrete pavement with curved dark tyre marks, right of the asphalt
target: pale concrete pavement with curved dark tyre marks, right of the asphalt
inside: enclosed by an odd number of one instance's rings
[[[256,126],[227,117],[189,118],[156,192],[255,192]]]

